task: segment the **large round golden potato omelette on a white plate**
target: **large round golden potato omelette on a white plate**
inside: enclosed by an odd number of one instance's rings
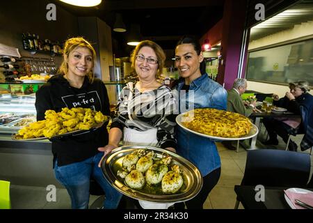
[[[252,123],[246,116],[209,108],[187,112],[182,116],[182,125],[195,132],[227,138],[242,137],[252,128]]]

